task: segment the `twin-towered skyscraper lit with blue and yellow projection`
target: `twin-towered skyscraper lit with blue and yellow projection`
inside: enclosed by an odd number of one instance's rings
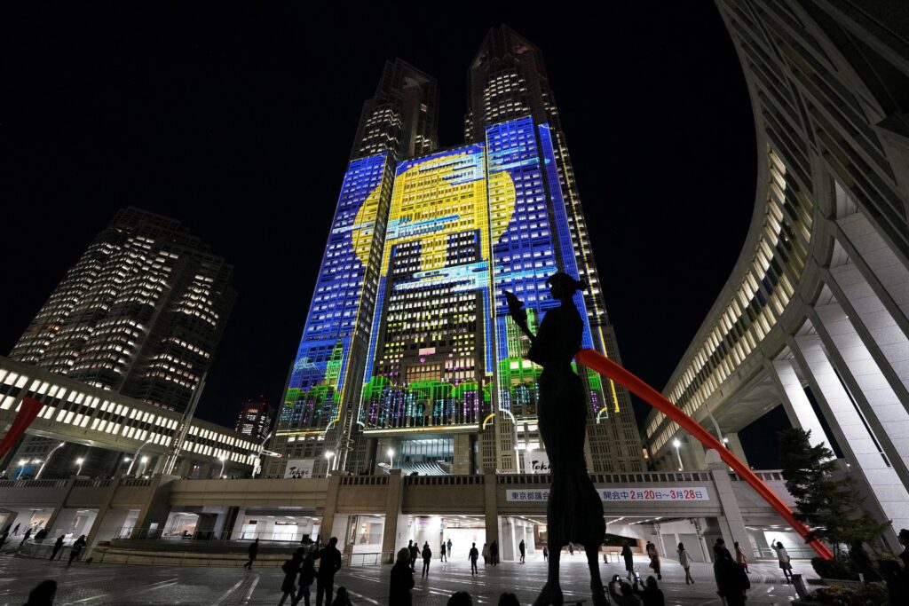
[[[541,369],[504,291],[535,328],[556,271],[590,283],[584,346],[618,358],[542,56],[502,27],[469,74],[454,148],[435,146],[435,81],[404,62],[365,103],[266,473],[545,471]],[[641,470],[627,392],[576,371],[591,470]]]

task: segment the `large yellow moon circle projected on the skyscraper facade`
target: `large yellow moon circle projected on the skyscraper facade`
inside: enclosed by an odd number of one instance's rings
[[[354,247],[366,263],[373,244],[381,185],[356,215]],[[507,171],[486,174],[482,148],[472,147],[417,162],[395,178],[382,275],[391,247],[420,243],[421,272],[445,267],[448,236],[480,231],[480,258],[488,258],[490,236],[497,242],[514,214],[514,182]]]

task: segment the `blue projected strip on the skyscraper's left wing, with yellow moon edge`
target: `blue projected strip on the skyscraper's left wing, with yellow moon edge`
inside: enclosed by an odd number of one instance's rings
[[[325,431],[337,418],[351,370],[355,330],[360,326],[359,332],[366,332],[362,320],[373,311],[372,295],[365,284],[375,281],[375,276],[368,275],[368,260],[371,254],[376,260],[380,255],[375,234],[381,227],[377,218],[387,211],[383,199],[387,201],[391,188],[390,173],[385,154],[380,154],[351,162],[345,174],[285,392],[280,418],[283,430]],[[301,237],[310,233],[301,227]],[[365,342],[367,337],[361,334],[357,338]],[[359,388],[357,384],[355,399]]]

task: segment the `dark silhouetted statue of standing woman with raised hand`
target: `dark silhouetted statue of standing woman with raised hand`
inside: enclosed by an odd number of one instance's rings
[[[545,313],[535,335],[527,327],[524,304],[514,293],[505,292],[508,312],[532,343],[527,357],[543,366],[536,413],[540,436],[549,455],[553,483],[546,505],[549,569],[546,584],[534,606],[564,602],[559,585],[559,554],[569,542],[584,545],[594,604],[601,606],[608,603],[597,561],[606,531],[603,502],[587,474],[584,460],[587,398],[581,377],[571,367],[574,354],[581,349],[584,332],[584,322],[572,297],[587,284],[559,272],[551,275],[546,285],[562,305]]]

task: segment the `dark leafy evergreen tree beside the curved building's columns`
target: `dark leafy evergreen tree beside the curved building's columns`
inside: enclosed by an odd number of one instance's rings
[[[780,432],[780,461],[786,489],[795,498],[795,517],[812,529],[806,539],[832,544],[837,556],[844,543],[873,544],[890,522],[862,511],[864,498],[852,478],[837,473],[834,453],[824,443],[813,446],[810,436],[799,428]]]

